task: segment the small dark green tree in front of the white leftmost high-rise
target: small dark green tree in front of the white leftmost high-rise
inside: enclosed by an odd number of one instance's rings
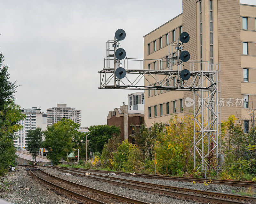
[[[42,147],[42,136],[43,132],[41,128],[36,128],[35,130],[28,130],[27,138],[28,146],[27,149],[29,153],[33,155],[33,158],[36,162],[36,153],[39,151],[39,148]]]

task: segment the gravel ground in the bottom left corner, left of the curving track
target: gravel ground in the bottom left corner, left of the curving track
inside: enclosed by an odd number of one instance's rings
[[[2,177],[0,198],[13,204],[76,204],[60,195],[53,193],[29,177],[24,167],[17,166],[17,170]]]

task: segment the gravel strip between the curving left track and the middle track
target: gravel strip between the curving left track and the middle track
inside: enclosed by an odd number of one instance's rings
[[[174,196],[167,196],[166,194],[163,193],[155,193],[155,192],[150,192],[150,191],[144,191],[140,189],[134,189],[131,187],[127,186],[113,186],[113,184],[109,184],[106,182],[101,182],[97,181],[94,179],[87,179],[83,177],[77,177],[74,175],[67,176],[64,172],[55,170],[55,169],[50,169],[46,167],[40,167],[43,169],[45,172],[54,174],[57,177],[67,179],[72,182],[76,182],[85,186],[90,186],[93,188],[97,188],[103,191],[108,191],[110,193],[116,193],[119,195],[123,195],[126,197],[130,197],[133,199],[137,200],[142,200],[145,202],[149,203],[154,203],[154,204],[170,204],[170,203],[175,203],[175,204],[199,204],[199,203],[207,203],[203,201],[193,201],[189,200],[186,198],[177,198]],[[182,200],[181,200],[182,199]]]

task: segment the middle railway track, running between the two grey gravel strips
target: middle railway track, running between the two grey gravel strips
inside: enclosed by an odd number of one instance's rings
[[[215,202],[215,203],[224,203],[224,204],[238,204],[238,203],[255,203],[256,198],[254,197],[249,197],[249,196],[240,196],[240,195],[232,195],[232,194],[225,194],[225,193],[215,193],[215,192],[208,192],[208,191],[202,191],[202,190],[195,190],[195,189],[189,189],[189,188],[181,188],[181,187],[175,187],[175,186],[164,186],[164,185],[159,185],[159,184],[152,184],[152,183],[146,183],[146,182],[141,182],[141,181],[134,181],[134,180],[129,180],[129,179],[121,179],[121,178],[116,178],[116,177],[110,177],[110,176],[105,176],[105,175],[99,175],[99,174],[91,174],[92,176],[89,175],[83,175],[85,172],[83,171],[77,171],[77,170],[63,170],[60,168],[56,167],[49,167],[56,169],[58,171],[62,172],[69,172],[73,175],[79,176],[79,177],[85,177],[85,178],[90,178],[90,179],[97,179],[103,182],[108,182],[108,183],[113,183],[115,185],[121,185],[121,186],[129,186],[137,189],[142,189],[142,190],[147,190],[151,192],[157,192],[157,193],[164,193],[167,195],[173,195],[173,196],[179,196],[183,198],[191,198],[191,199],[196,199],[196,200],[204,200],[208,202]],[[83,174],[78,174],[74,172],[79,172]],[[98,177],[104,177],[107,179],[102,179]],[[119,181],[113,181],[109,179],[116,179],[116,180],[122,180],[128,183],[123,183]],[[140,185],[134,185],[130,183],[136,183]],[[148,187],[150,186],[150,187]],[[151,187],[154,186],[154,187]],[[168,189],[168,190],[167,190]],[[174,190],[174,191],[173,191]],[[189,193],[183,193],[183,192],[189,192]],[[201,195],[198,195],[201,194]],[[229,200],[227,200],[229,199]],[[248,202],[244,202],[248,201]]]

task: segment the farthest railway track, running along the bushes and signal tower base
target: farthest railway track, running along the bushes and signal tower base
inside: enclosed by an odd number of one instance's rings
[[[165,175],[152,175],[152,174],[140,174],[136,173],[136,175],[132,175],[131,173],[121,172],[121,171],[102,171],[102,170],[93,170],[93,169],[79,169],[79,168],[69,168],[69,167],[57,167],[60,169],[73,169],[73,170],[81,170],[86,172],[100,172],[100,173],[116,173],[119,176],[133,176],[133,177],[144,177],[151,179],[170,179],[176,181],[188,181],[188,182],[201,182],[210,181],[210,179],[202,179],[202,178],[190,178],[190,177],[175,177],[175,176],[165,176]],[[235,180],[220,180],[220,179],[211,179],[213,184],[223,184],[230,186],[244,186],[244,187],[256,187],[256,182],[253,181],[235,181]]]

